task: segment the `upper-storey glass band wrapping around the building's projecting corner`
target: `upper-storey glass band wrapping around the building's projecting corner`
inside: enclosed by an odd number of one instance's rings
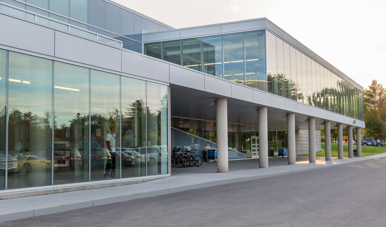
[[[364,120],[363,92],[266,30],[145,43],[144,54]]]

